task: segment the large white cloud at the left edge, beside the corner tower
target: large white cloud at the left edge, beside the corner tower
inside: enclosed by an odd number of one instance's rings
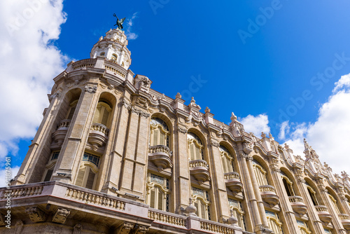
[[[41,123],[52,78],[66,57],[51,41],[66,21],[63,0],[0,1],[0,158]]]

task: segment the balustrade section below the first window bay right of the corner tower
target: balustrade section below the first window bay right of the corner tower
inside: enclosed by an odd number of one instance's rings
[[[186,227],[186,216],[181,216],[179,214],[172,214],[169,212],[162,212],[159,209],[148,209],[148,218],[155,221],[160,221],[162,223],[170,223],[176,226]]]

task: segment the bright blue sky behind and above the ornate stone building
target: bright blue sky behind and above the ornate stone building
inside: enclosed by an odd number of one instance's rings
[[[15,17],[16,13],[22,14],[31,7],[27,1],[20,1],[23,3],[18,5],[4,1],[3,7],[10,7],[6,9]],[[47,93],[52,78],[64,69],[64,63],[90,57],[93,44],[116,23],[113,18],[116,13],[119,18],[127,18],[125,32],[136,38],[130,39],[128,45],[132,52],[130,69],[135,74],[148,76],[153,81],[151,88],[169,97],[181,92],[186,104],[193,96],[202,111],[209,106],[214,118],[224,123],[230,123],[233,111],[246,123],[247,131],[270,131],[281,144],[288,142],[294,146],[297,153],[302,151],[302,138],[307,137],[318,155],[329,161],[331,149],[321,152],[326,146],[332,147],[332,143],[327,143],[328,138],[350,140],[346,132],[350,127],[333,126],[335,122],[346,123],[350,116],[350,111],[346,111],[349,90],[344,89],[349,88],[350,79],[344,76],[350,74],[349,1],[52,2],[55,4],[41,6],[36,15],[12,35],[0,28],[5,31],[0,39],[9,44],[22,30],[27,30],[26,35],[36,35],[38,31],[43,32],[43,37],[48,35],[46,41],[40,35],[32,40],[43,48],[42,53],[55,50],[51,57],[57,58],[57,62],[52,61],[52,69],[45,76],[36,71],[31,76],[19,75],[28,76],[24,81],[37,83],[41,79],[36,76],[45,77],[41,90]],[[52,15],[43,15],[41,11],[46,8]],[[4,17],[1,20],[6,22]],[[35,25],[32,19],[36,17],[47,22],[46,25],[43,22]],[[27,46],[25,42],[21,45]],[[5,55],[0,56],[6,60]],[[30,64],[29,61],[28,66]],[[338,83],[337,90],[332,91],[341,76],[345,78]],[[189,95],[186,90],[190,89],[193,79],[203,82]],[[341,98],[339,92],[344,92],[346,97],[336,102],[335,97]],[[36,99],[45,102],[32,110],[36,117],[27,124],[31,130],[0,137],[0,143],[3,142],[0,149],[13,155],[15,166],[22,162],[34,137],[40,123],[38,113],[48,106],[43,92],[30,103]],[[332,111],[334,106],[339,113]],[[342,119],[335,121],[330,113]],[[326,125],[332,126],[332,130],[327,130]],[[323,128],[323,132],[319,132]],[[345,146],[342,149],[345,150]],[[332,167],[332,163],[329,164]],[[350,171],[349,164],[347,168],[344,163],[341,166]],[[339,166],[333,164],[341,170]]]

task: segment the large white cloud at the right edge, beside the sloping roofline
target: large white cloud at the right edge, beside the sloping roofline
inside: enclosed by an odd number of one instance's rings
[[[320,157],[327,162],[333,172],[350,172],[350,156],[346,146],[350,142],[350,74],[342,76],[335,83],[333,94],[318,110],[314,123],[290,125],[286,143],[294,154],[304,155],[305,137]]]

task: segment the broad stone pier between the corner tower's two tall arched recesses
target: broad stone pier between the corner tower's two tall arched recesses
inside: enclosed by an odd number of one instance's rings
[[[76,107],[76,118],[71,121],[71,128],[67,132],[66,139],[62,144],[62,157],[57,161],[57,170],[53,174],[53,180],[74,183],[76,172],[85,149],[85,142],[89,136],[90,126],[94,111],[97,106],[98,96],[96,94],[97,84],[85,85],[85,92],[82,92]],[[57,173],[65,174],[61,176]]]

